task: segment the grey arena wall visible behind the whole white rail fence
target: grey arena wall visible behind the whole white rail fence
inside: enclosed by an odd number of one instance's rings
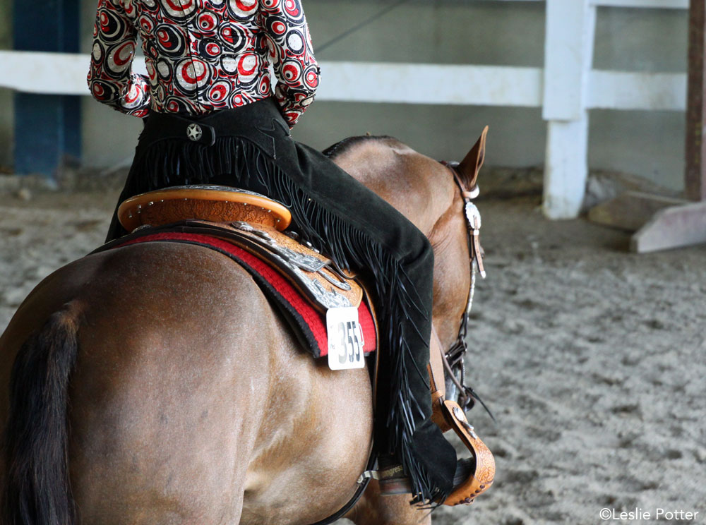
[[[0,45],[10,0],[0,0]],[[314,47],[391,2],[304,0]],[[90,50],[95,0],[85,0],[82,51]],[[4,24],[4,26],[3,26]],[[601,8],[594,67],[627,71],[686,71],[684,10]],[[436,64],[543,66],[544,4],[527,1],[409,0],[387,15],[317,53],[319,59]],[[88,64],[86,66],[88,68]],[[326,81],[323,71],[323,80]],[[11,135],[6,94],[0,92],[0,164]],[[132,155],[140,122],[83,100],[84,160],[109,167]],[[546,126],[539,109],[409,106],[316,102],[294,130],[323,148],[348,135],[395,135],[440,158],[460,158],[482,126],[491,126],[487,163],[527,167],[544,162]],[[646,176],[681,188],[683,114],[592,111],[590,167]],[[108,134],[109,132],[109,134]],[[3,157],[5,156],[5,158]]]

